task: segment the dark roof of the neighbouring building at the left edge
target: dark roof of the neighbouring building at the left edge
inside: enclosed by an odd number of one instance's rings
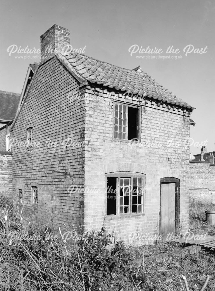
[[[20,94],[0,91],[0,120],[14,119],[19,104]]]

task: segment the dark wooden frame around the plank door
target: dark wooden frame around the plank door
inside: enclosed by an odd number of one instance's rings
[[[180,180],[173,177],[160,179],[160,211],[159,211],[159,233],[161,227],[161,184],[162,182],[175,183],[175,235],[179,234],[179,213],[180,213]]]

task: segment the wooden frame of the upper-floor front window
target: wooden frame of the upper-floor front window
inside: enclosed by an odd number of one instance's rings
[[[127,122],[126,122],[126,139],[119,139],[119,138],[115,138],[114,137],[114,126],[115,126],[115,105],[122,105],[122,106],[126,106],[127,107]],[[140,136],[141,136],[141,107],[138,105],[134,105],[134,104],[129,104],[129,103],[122,103],[122,102],[113,102],[113,139],[115,141],[130,141],[130,139],[128,139],[128,107],[133,107],[138,109],[138,141],[140,141]]]

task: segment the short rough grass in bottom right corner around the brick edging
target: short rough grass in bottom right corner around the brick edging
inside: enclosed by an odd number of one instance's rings
[[[161,244],[135,247],[136,257],[149,258],[158,253],[168,253],[169,256],[162,262],[147,261],[144,265],[142,291],[182,291],[180,279],[186,277],[189,290],[199,291],[207,275],[210,276],[205,291],[215,290],[215,257],[212,253],[200,251],[181,258],[177,254],[182,249],[180,244]],[[184,290],[185,286],[183,285]]]

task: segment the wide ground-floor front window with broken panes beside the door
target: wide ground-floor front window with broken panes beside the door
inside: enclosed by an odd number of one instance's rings
[[[107,176],[107,215],[144,212],[145,175],[109,174]]]

